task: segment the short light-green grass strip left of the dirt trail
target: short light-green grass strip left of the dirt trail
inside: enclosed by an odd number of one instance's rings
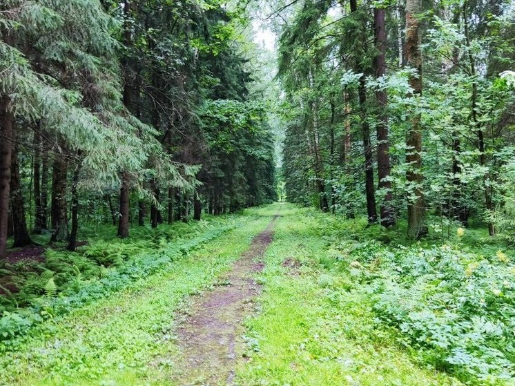
[[[4,351],[0,385],[162,385],[173,363],[155,360],[177,354],[177,309],[229,269],[274,211],[247,211],[233,231],[163,271],[44,322]]]

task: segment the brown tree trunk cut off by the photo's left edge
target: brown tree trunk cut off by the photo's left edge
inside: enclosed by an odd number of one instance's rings
[[[7,254],[7,234],[9,217],[9,195],[12,157],[12,121],[14,117],[9,110],[10,100],[0,94],[0,259]]]

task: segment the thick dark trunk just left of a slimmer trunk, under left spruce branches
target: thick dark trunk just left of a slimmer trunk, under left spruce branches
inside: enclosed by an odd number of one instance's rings
[[[66,213],[66,160],[64,154],[55,154],[52,167],[52,237],[50,241],[68,240],[68,216]]]

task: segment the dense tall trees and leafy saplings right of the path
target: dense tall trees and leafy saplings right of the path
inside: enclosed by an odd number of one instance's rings
[[[513,241],[509,1],[305,1],[280,37],[289,200]]]

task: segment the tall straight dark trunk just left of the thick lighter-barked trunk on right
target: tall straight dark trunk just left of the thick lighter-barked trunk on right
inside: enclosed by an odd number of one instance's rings
[[[374,70],[376,79],[382,77],[386,73],[385,54],[387,44],[385,8],[374,8],[374,39],[379,55],[374,58]],[[391,182],[387,179],[390,175],[390,155],[389,155],[389,139],[388,139],[388,116],[387,108],[387,92],[386,90],[377,90],[376,99],[379,107],[378,124],[376,126],[376,134],[378,139],[378,189],[384,189],[385,195],[382,197],[380,205],[380,224],[382,226],[392,226],[395,224],[395,213],[391,207],[393,199],[391,195]]]

